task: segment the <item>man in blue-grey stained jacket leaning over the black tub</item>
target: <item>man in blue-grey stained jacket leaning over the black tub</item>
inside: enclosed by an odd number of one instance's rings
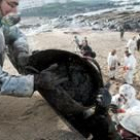
[[[39,82],[46,79],[45,74],[15,76],[2,70],[6,46],[8,56],[18,71],[24,67],[29,56],[26,37],[12,25],[14,20],[11,20],[10,14],[17,12],[18,4],[19,0],[0,0],[0,95],[31,97]]]

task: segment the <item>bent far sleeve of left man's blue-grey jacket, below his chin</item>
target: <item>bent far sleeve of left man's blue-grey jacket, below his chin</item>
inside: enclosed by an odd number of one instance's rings
[[[3,33],[8,49],[8,56],[16,69],[19,69],[19,67],[24,65],[22,62],[25,62],[22,61],[22,57],[30,55],[27,38],[16,26],[3,27]]]

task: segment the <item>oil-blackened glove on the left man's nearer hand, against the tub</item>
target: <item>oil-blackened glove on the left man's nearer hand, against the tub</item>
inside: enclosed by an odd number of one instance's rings
[[[39,74],[34,75],[34,90],[53,90],[67,78],[63,78],[55,73],[57,65],[52,65],[46,70],[41,71]]]

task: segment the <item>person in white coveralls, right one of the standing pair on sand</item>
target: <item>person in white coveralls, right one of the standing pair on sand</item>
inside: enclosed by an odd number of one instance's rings
[[[125,82],[133,84],[133,77],[136,68],[136,59],[128,50],[125,51],[124,58],[124,71],[125,71]]]

